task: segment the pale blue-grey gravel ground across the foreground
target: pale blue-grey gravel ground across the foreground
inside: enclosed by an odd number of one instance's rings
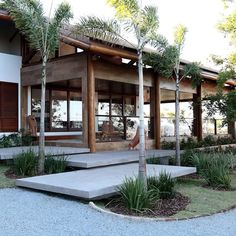
[[[235,236],[236,210],[185,221],[139,222],[96,212],[77,200],[0,189],[0,236]]]

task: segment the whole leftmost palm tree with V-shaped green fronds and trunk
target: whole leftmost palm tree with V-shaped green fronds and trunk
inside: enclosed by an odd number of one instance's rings
[[[61,3],[55,10],[54,17],[50,19],[44,16],[43,6],[39,0],[4,0],[4,7],[9,11],[16,27],[30,43],[31,48],[39,51],[42,58],[38,160],[38,173],[42,174],[45,162],[44,118],[47,61],[58,47],[60,28],[72,17],[70,5]]]

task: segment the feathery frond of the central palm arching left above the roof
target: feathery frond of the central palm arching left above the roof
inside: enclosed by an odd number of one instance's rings
[[[122,38],[118,21],[113,19],[103,20],[95,16],[81,17],[74,31],[76,34],[83,34],[108,43],[116,43]]]

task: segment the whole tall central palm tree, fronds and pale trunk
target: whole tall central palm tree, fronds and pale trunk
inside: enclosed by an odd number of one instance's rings
[[[146,186],[146,161],[145,161],[145,134],[144,134],[144,98],[143,98],[143,48],[148,43],[160,45],[162,37],[157,35],[159,26],[157,9],[153,6],[142,8],[138,0],[108,0],[116,11],[116,18],[103,20],[98,17],[83,17],[76,25],[75,32],[83,33],[96,39],[102,39],[111,43],[117,40],[128,42],[137,50],[138,77],[139,77],[139,178]],[[137,45],[130,43],[126,36],[132,32],[137,40]]]

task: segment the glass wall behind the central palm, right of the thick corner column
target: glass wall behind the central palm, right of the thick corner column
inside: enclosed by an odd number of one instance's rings
[[[150,93],[150,88],[146,87],[145,91]],[[102,92],[96,94],[97,141],[131,140],[139,124],[138,96]],[[150,134],[150,96],[144,100],[145,126]]]

